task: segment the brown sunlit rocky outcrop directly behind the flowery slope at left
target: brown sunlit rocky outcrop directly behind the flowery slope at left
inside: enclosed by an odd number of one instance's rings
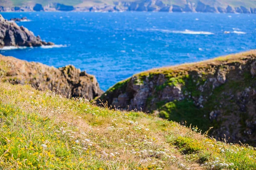
[[[30,84],[38,90],[49,89],[67,97],[94,99],[103,93],[94,76],[73,65],[54,68],[0,55],[0,77],[2,81]]]

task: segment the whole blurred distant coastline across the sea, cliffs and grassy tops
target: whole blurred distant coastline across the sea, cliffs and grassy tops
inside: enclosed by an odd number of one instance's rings
[[[11,0],[14,1],[14,0]],[[35,0],[37,2],[37,0]],[[41,1],[40,1],[41,2]],[[0,3],[0,11],[166,11],[166,12],[214,12],[256,13],[255,0],[129,0],[129,1],[83,1],[73,3],[60,1],[38,3]],[[21,4],[21,5],[20,5]],[[15,6],[18,5],[18,6]]]

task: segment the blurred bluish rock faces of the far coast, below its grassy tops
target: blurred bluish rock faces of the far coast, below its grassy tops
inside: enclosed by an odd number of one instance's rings
[[[187,1],[184,6],[168,5],[161,0],[145,0],[142,2],[122,1],[113,5],[100,4],[94,6],[77,7],[67,6],[61,3],[50,3],[46,6],[35,4],[32,6],[0,6],[0,11],[93,11],[93,12],[114,12],[114,11],[163,11],[163,12],[211,12],[211,13],[246,13],[256,14],[256,8],[245,6],[209,6],[201,1],[197,4]]]

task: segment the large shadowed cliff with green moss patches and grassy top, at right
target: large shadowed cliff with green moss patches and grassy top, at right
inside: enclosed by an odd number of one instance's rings
[[[214,127],[216,139],[225,134],[228,142],[256,146],[256,51],[146,71],[117,83],[100,100],[203,131]]]

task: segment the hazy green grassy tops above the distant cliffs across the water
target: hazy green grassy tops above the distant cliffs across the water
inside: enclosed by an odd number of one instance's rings
[[[64,5],[69,6],[92,6],[96,4],[113,4],[113,2],[140,2],[142,0],[2,0],[0,1],[1,6],[7,6],[12,4],[12,6],[26,6],[29,4],[40,3],[43,6],[49,3],[61,3]],[[169,5],[178,5],[178,6],[185,6],[187,0],[163,0],[163,3]],[[197,4],[198,0],[190,0],[190,2]],[[252,7],[256,8],[256,1],[255,0],[201,0],[201,2],[208,4],[210,6],[223,6],[227,7],[227,5],[238,7],[238,6],[245,6],[245,7]]]

